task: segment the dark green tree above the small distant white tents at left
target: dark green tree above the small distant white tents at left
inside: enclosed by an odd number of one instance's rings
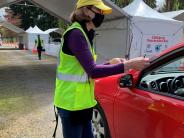
[[[9,8],[13,12],[13,16],[20,16],[22,19],[20,27],[24,30],[35,25],[42,30],[58,27],[58,19],[56,17],[26,0],[10,5]]]

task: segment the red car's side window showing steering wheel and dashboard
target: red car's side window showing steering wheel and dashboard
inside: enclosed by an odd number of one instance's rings
[[[144,75],[139,87],[148,92],[184,98],[184,57],[163,63]]]

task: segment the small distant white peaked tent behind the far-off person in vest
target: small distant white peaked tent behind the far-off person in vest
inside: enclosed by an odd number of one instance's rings
[[[32,50],[35,46],[35,40],[37,39],[37,36],[40,35],[41,39],[43,39],[44,44],[47,44],[49,41],[49,34],[39,29],[37,26],[34,28],[29,27],[26,30],[27,36],[26,36],[26,48],[29,50]]]

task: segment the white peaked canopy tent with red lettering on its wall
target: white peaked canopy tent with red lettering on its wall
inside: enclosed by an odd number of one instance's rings
[[[182,41],[183,23],[158,13],[142,0],[122,10],[130,16],[130,58],[151,57]]]

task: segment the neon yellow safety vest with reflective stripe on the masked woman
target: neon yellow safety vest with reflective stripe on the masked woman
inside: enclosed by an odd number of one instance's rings
[[[94,49],[79,23],[73,23],[65,31],[63,38],[72,29],[79,29],[83,33],[93,58],[96,60]],[[58,58],[54,105],[70,111],[94,107],[97,104],[94,97],[94,80],[88,77],[75,56],[63,53],[63,44],[64,39],[62,39]]]

